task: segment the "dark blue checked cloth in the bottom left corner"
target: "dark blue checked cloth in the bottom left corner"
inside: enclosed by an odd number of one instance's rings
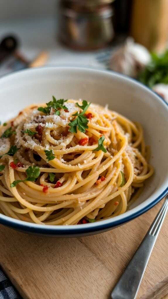
[[[0,268],[0,299],[22,299]]]

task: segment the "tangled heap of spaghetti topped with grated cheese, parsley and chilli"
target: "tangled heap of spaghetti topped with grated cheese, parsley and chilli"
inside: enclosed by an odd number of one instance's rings
[[[27,222],[115,217],[153,174],[141,125],[87,101],[31,105],[0,136],[0,212]]]

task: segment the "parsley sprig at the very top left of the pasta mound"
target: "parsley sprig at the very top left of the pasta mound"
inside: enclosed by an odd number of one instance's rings
[[[56,100],[56,98],[54,96],[52,96],[52,101],[50,101],[49,103],[46,103],[47,107],[43,108],[43,107],[39,107],[38,110],[45,113],[45,114],[50,114],[51,108],[55,109],[55,115],[60,115],[60,111],[58,111],[58,109],[67,109],[67,107],[64,105],[64,103],[67,100],[64,99],[60,99],[60,100]]]

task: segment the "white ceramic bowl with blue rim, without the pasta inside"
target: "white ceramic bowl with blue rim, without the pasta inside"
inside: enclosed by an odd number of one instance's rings
[[[60,237],[95,234],[122,225],[141,215],[168,193],[168,105],[146,86],[108,71],[85,68],[39,68],[0,79],[0,119],[8,120],[25,106],[58,98],[85,99],[122,113],[143,125],[151,146],[155,174],[131,210],[112,219],[86,225],[38,225],[0,214],[0,223],[20,231]]]

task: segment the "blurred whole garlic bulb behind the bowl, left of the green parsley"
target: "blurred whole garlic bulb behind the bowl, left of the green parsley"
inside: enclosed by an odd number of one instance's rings
[[[150,59],[149,51],[144,46],[128,38],[125,45],[114,52],[109,66],[113,71],[135,78]]]

